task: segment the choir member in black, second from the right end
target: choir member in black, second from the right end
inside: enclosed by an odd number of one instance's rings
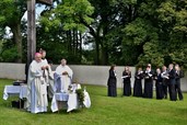
[[[170,92],[170,99],[171,101],[176,101],[176,90],[175,90],[175,83],[176,83],[176,72],[173,69],[174,65],[170,64],[168,66],[168,78],[170,78],[170,88],[168,88],[168,92]]]

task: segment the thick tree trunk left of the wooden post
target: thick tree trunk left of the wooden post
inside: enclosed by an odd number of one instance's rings
[[[13,39],[16,44],[17,49],[17,60],[16,63],[22,63],[22,34],[21,34],[21,24],[16,23],[13,26],[10,26],[13,33]]]

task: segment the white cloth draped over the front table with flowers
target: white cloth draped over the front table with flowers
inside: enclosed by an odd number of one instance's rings
[[[78,94],[72,92],[72,93],[55,93],[52,101],[51,101],[51,111],[57,112],[59,111],[59,101],[66,101],[67,102],[67,112],[71,112],[72,110],[77,110],[79,107],[79,101],[78,101]],[[85,107],[91,106],[91,100],[90,95],[86,91],[84,91],[84,102],[83,102]]]

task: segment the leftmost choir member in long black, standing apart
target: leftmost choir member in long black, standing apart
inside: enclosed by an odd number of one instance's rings
[[[108,96],[117,96],[116,83],[117,83],[117,79],[116,79],[115,65],[113,65],[113,66],[110,66],[109,78],[108,78],[108,81],[107,81]]]

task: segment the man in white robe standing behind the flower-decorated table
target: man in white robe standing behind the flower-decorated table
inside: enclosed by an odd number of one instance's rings
[[[58,84],[56,87],[59,87],[57,89],[59,89],[60,92],[68,92],[68,88],[72,81],[72,75],[73,75],[72,70],[70,69],[69,66],[67,66],[67,60],[61,59],[61,64],[56,68],[56,76],[60,78],[61,83],[60,86],[57,82],[55,83]]]

